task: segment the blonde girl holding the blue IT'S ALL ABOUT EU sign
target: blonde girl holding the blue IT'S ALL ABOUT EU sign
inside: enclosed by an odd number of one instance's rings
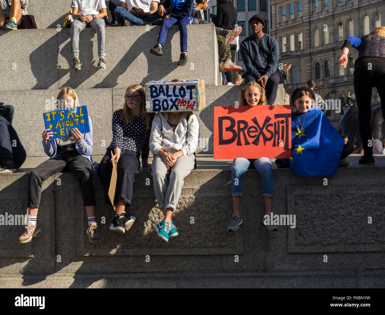
[[[70,87],[64,87],[59,91],[57,99],[60,100],[60,108],[67,109],[79,106],[75,91]],[[88,217],[87,235],[90,242],[100,241],[99,231],[95,221],[95,191],[92,181],[92,123],[88,117],[90,131],[80,133],[77,128],[72,128],[70,136],[52,138],[54,132],[47,128],[42,133],[44,152],[49,160],[36,167],[29,176],[28,184],[28,222],[23,228],[19,243],[28,243],[33,237],[42,233],[37,223],[37,212],[40,204],[42,183],[55,173],[69,169],[74,173],[79,182],[82,198]]]

